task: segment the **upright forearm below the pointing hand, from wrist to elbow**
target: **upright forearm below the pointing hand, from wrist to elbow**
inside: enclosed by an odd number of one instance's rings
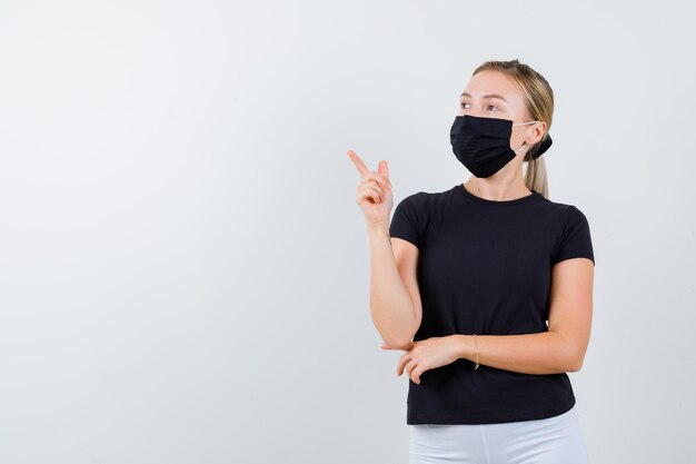
[[[370,240],[370,314],[381,338],[401,346],[412,338],[416,316],[394,258],[388,224],[368,226]]]

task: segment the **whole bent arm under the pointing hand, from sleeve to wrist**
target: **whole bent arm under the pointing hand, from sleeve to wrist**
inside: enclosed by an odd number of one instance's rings
[[[389,348],[411,342],[422,318],[416,269],[418,247],[389,236],[388,224],[367,226],[370,241],[370,314]]]

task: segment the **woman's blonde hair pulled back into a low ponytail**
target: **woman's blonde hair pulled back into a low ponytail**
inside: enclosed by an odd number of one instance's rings
[[[548,179],[544,156],[534,159],[541,142],[548,138],[554,119],[554,90],[544,76],[531,69],[528,65],[520,63],[517,59],[510,61],[486,61],[471,76],[480,71],[499,71],[506,75],[519,88],[527,112],[531,120],[546,122],[546,132],[541,140],[529,147],[524,161],[527,162],[525,185],[528,189],[538,191],[548,198]]]

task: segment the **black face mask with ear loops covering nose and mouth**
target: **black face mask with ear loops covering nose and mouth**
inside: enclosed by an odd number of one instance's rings
[[[527,144],[524,142],[517,150],[510,148],[513,126],[534,122],[539,121],[514,124],[509,119],[457,116],[449,131],[453,152],[474,176],[490,177],[515,159]],[[541,156],[551,144],[551,137],[547,134],[533,158]]]

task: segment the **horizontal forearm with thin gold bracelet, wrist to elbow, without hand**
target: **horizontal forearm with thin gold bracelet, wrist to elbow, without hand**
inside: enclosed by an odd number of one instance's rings
[[[459,357],[475,362],[474,335],[453,335]],[[477,335],[478,363],[523,374],[576,372],[581,355],[560,334]]]

